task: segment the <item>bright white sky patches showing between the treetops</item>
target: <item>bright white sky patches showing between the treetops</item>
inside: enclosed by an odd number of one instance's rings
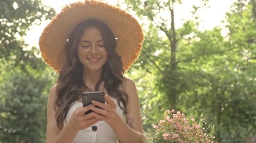
[[[79,0],[43,0],[43,4],[54,8],[56,13],[59,13],[62,7],[75,1]],[[103,1],[112,5],[119,4],[121,5],[121,8],[125,8],[124,0]],[[230,6],[234,3],[234,1],[235,0],[209,0],[209,8],[204,8],[203,10],[199,11],[199,19],[202,20],[200,23],[200,29],[212,29],[213,27],[221,26],[221,21],[224,19],[225,13],[230,9]],[[182,26],[182,21],[190,17],[188,13],[192,10],[191,5],[200,5],[200,3],[200,0],[186,0],[181,5],[176,6],[176,27]],[[24,38],[25,42],[31,46],[38,47],[38,39],[40,34],[43,32],[44,27],[46,27],[49,22],[49,20],[43,21],[40,26],[34,24],[34,26],[31,27],[31,30],[27,32],[27,36]]]

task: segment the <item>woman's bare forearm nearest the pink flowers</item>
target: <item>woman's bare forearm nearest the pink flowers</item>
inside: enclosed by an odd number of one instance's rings
[[[143,143],[143,139],[139,133],[136,130],[131,129],[122,119],[116,122],[115,125],[112,126],[112,129],[122,143]]]

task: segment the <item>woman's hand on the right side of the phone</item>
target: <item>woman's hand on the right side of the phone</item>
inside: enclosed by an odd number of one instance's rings
[[[91,106],[90,108],[92,111],[94,111],[92,112],[94,117],[97,117],[97,119],[100,120],[104,120],[106,123],[112,126],[115,125],[116,121],[121,119],[121,117],[119,117],[118,113],[116,113],[117,105],[115,101],[113,101],[113,99],[107,94],[105,94],[105,100],[107,104],[103,104],[102,102],[98,101],[92,101],[94,106]],[[96,105],[101,108],[95,107]]]

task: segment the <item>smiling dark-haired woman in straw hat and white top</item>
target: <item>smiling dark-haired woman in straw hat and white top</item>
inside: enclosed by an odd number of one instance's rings
[[[59,72],[46,142],[146,142],[135,83],[123,75],[142,42],[137,21],[103,2],[71,4],[52,20],[40,37],[44,61]],[[89,91],[105,92],[106,103],[83,107],[81,95]]]

